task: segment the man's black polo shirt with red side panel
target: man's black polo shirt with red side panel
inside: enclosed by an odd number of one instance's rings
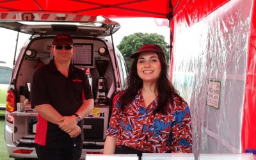
[[[85,99],[93,99],[90,83],[84,71],[70,65],[68,77],[57,70],[54,60],[38,68],[31,83],[31,106],[51,104],[62,116],[76,113]],[[48,122],[38,114],[35,143],[51,147],[67,147],[83,143],[83,120],[78,124],[82,133],[70,138],[58,125]],[[76,142],[77,141],[77,142]]]

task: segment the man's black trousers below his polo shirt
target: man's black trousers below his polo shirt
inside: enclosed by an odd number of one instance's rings
[[[35,143],[39,160],[79,160],[82,152],[77,147],[45,147]]]

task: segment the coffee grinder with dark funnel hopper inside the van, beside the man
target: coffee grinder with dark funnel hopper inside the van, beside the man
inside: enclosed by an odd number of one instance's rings
[[[99,77],[97,78],[96,83],[96,98],[95,104],[97,105],[106,105],[108,104],[107,97],[107,79],[104,77],[104,74],[108,68],[109,60],[95,60],[95,65],[99,72]]]

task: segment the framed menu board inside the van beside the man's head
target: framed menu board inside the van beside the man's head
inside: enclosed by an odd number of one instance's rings
[[[93,65],[93,45],[92,44],[74,44],[75,52],[72,63],[74,65]]]

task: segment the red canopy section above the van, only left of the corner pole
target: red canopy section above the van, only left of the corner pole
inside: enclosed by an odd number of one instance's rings
[[[51,12],[117,17],[166,18],[168,0],[6,0],[0,1],[0,12]]]

